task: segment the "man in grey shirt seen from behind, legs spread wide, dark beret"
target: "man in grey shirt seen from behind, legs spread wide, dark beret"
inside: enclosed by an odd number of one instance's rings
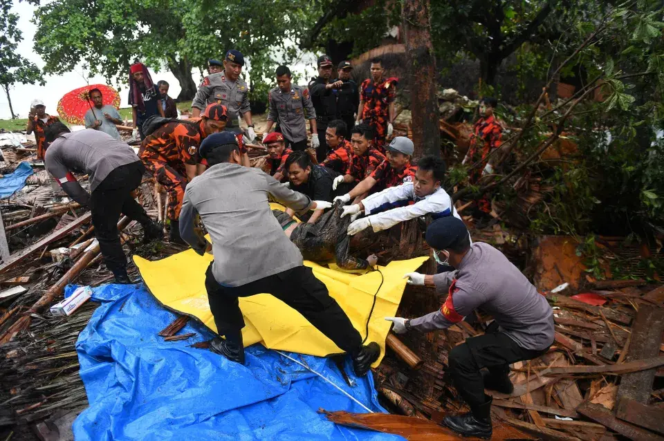
[[[210,349],[244,363],[244,320],[238,297],[266,292],[297,310],[349,353],[356,375],[365,375],[380,355],[378,344],[362,346],[362,337],[346,313],[311,268],[303,265],[302,254],[271,213],[268,196],[298,214],[329,208],[331,203],[312,201],[259,169],[242,167],[232,133],[208,136],[200,153],[210,168],[185,189],[180,233],[199,254],[210,250],[214,254],[205,273],[205,289],[217,332],[225,339],[212,340]],[[208,229],[212,245],[194,229],[196,214]]]

